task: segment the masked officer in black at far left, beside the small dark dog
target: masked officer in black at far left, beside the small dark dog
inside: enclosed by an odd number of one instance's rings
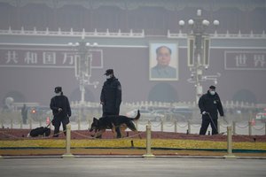
[[[53,119],[51,121],[54,126],[53,137],[59,137],[59,127],[62,123],[64,134],[66,135],[66,124],[69,123],[71,116],[71,109],[68,98],[63,95],[62,88],[56,87],[54,89],[56,96],[51,98],[50,108],[52,110]]]

